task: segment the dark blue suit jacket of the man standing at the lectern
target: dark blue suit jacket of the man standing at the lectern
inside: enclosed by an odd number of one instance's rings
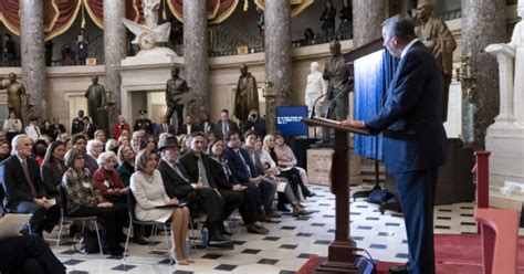
[[[444,164],[441,85],[433,55],[416,42],[400,60],[381,109],[364,122],[373,134],[384,131],[384,161],[389,172]]]

